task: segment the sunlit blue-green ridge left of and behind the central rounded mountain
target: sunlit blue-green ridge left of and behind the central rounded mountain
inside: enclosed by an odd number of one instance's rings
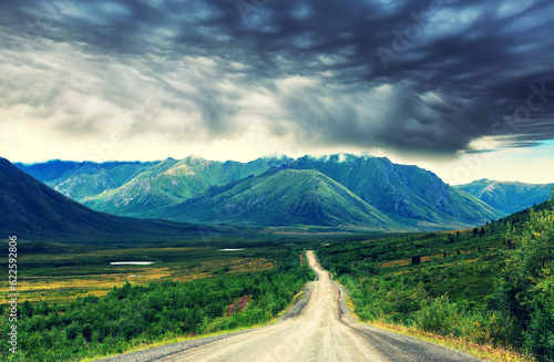
[[[266,157],[243,164],[189,156],[155,163],[51,161],[16,166],[95,210],[141,217],[153,208],[191,198],[209,186],[258,175],[286,161]]]

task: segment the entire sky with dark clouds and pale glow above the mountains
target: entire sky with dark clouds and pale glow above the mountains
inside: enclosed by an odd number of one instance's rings
[[[3,0],[12,162],[369,152],[554,183],[551,0]]]

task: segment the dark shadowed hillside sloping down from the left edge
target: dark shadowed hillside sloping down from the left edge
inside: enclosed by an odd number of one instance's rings
[[[91,210],[0,157],[0,234],[33,239],[183,236],[197,227]]]

